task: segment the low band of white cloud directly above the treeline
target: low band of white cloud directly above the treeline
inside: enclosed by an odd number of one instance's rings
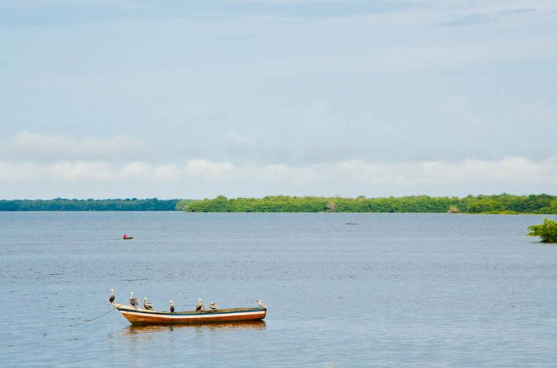
[[[480,193],[549,191],[557,184],[557,158],[531,161],[524,157],[500,160],[370,162],[363,159],[335,163],[289,166],[284,164],[233,164],[192,159],[184,165],[153,165],[134,161],[115,165],[103,161],[58,161],[31,163],[0,161],[0,186],[15,189],[33,186],[26,196],[45,198],[44,193],[68,196],[70,188],[89,188],[82,197],[102,193],[159,198],[196,197],[217,194],[257,196],[290,195],[464,195]],[[130,193],[130,184],[134,193]],[[171,193],[168,191],[171,189]],[[57,192],[59,191],[59,192]],[[10,191],[5,196],[16,198]]]

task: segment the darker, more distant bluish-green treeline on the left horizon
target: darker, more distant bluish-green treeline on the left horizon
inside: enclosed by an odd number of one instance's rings
[[[0,211],[174,211],[178,200],[0,200]]]

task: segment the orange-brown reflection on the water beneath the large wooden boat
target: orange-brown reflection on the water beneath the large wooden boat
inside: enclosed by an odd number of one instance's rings
[[[146,326],[127,326],[123,330],[123,335],[144,335],[151,333],[168,333],[174,330],[194,330],[194,331],[214,331],[214,330],[265,330],[265,321],[246,321],[235,323],[203,323],[203,324],[183,324],[183,325],[146,325]]]

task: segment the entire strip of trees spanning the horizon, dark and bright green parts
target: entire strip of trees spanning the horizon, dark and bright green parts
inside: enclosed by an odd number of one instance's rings
[[[459,197],[289,197],[205,200],[0,200],[0,211],[188,211],[188,212],[450,212],[468,214],[557,214],[557,196],[468,195]]]

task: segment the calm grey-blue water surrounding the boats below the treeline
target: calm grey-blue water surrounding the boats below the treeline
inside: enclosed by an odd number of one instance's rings
[[[556,367],[557,246],[524,236],[541,220],[0,212],[0,365]],[[113,311],[70,326],[109,311],[112,288],[165,310],[201,297],[269,312],[256,325],[132,328]]]

